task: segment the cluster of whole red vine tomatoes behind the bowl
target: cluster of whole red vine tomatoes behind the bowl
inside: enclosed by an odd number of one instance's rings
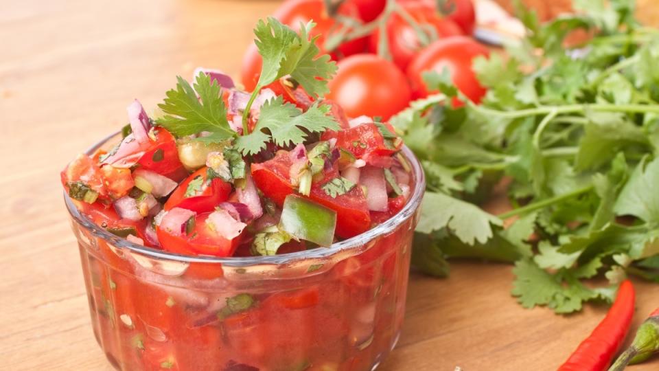
[[[319,36],[321,51],[338,62],[327,98],[342,106],[348,117],[387,120],[411,100],[435,93],[424,83],[425,71],[448,69],[456,87],[473,102],[485,95],[472,70],[472,60],[488,54],[486,47],[469,37],[476,22],[472,0],[450,0],[443,9],[437,8],[435,0],[396,0],[395,6],[387,6],[386,0],[347,0],[334,17],[324,3],[287,0],[273,15],[290,27],[311,20],[316,23],[312,36]],[[351,37],[351,31],[360,27],[338,21],[346,17],[362,23],[361,29],[373,31],[367,36],[355,32]],[[375,27],[378,22],[384,22],[384,29]],[[382,40],[382,30],[386,40]],[[345,41],[325,49],[325,41],[340,38],[340,32],[346,35]],[[261,65],[261,56],[252,44],[242,65],[246,89],[255,87]]]

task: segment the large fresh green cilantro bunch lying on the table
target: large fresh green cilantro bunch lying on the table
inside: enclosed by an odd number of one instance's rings
[[[441,93],[393,117],[428,179],[417,267],[515,262],[520,304],[556,313],[610,300],[629,274],[659,282],[659,32],[634,21],[632,1],[607,3],[577,0],[579,15],[543,25],[518,7],[527,38],[474,62],[482,104],[433,73]],[[578,29],[595,36],[566,49]],[[484,211],[501,189],[512,209]]]

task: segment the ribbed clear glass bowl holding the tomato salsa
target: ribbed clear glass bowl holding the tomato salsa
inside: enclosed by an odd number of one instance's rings
[[[108,148],[111,135],[88,150]],[[128,242],[65,194],[94,335],[118,370],[373,370],[395,346],[425,182],[364,234],[278,256],[183,256]]]

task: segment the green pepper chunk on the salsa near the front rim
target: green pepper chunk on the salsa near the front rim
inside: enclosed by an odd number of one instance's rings
[[[279,229],[301,240],[328,247],[334,242],[336,212],[295,194],[289,194],[281,211]]]

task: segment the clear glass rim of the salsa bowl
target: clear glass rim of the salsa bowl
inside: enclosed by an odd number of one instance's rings
[[[91,148],[86,150],[85,153],[87,155],[92,155],[95,152],[95,150],[104,146],[104,144],[106,144],[108,141],[119,135],[119,133],[120,132],[117,131],[116,133],[108,135],[97,144],[91,146]],[[378,225],[377,227],[373,229],[369,229],[367,232],[359,234],[358,236],[354,236],[352,238],[348,238],[347,240],[334,243],[330,247],[327,248],[319,247],[316,249],[297,251],[294,253],[275,255],[275,256],[246,256],[246,257],[231,256],[225,258],[218,258],[215,256],[187,256],[183,254],[175,254],[158,249],[152,249],[150,247],[145,247],[142,245],[137,245],[135,243],[131,243],[130,241],[124,238],[115,236],[114,234],[107,232],[99,225],[93,223],[93,221],[89,220],[89,218],[87,218],[82,213],[80,213],[78,207],[76,207],[76,205],[73,204],[73,201],[69,197],[69,194],[67,194],[67,192],[63,192],[63,193],[64,193],[64,200],[67,205],[67,210],[69,210],[69,214],[71,214],[73,220],[75,220],[78,224],[82,225],[82,227],[87,229],[94,236],[103,238],[108,243],[113,244],[115,247],[126,248],[131,251],[135,251],[139,254],[150,256],[152,258],[175,260],[179,262],[219,263],[222,265],[227,265],[229,267],[247,267],[251,265],[263,265],[263,264],[285,265],[298,260],[329,258],[330,256],[333,256],[334,254],[340,252],[359,249],[360,247],[363,247],[364,245],[369,243],[369,241],[374,240],[375,238],[378,238],[380,236],[385,236],[386,234],[395,231],[395,229],[399,225],[407,221],[408,218],[411,218],[415,214],[417,208],[420,206],[421,199],[423,199],[424,191],[426,189],[426,179],[424,176],[424,170],[423,168],[421,168],[421,164],[419,163],[419,160],[417,159],[417,157],[415,157],[412,151],[409,148],[407,148],[407,146],[403,146],[402,153],[404,154],[406,159],[408,159],[408,163],[411,165],[415,179],[415,186],[412,190],[412,194],[410,196],[409,201],[402,208],[402,210],[400,210],[400,212],[389,218],[389,220],[385,221],[384,223]]]

